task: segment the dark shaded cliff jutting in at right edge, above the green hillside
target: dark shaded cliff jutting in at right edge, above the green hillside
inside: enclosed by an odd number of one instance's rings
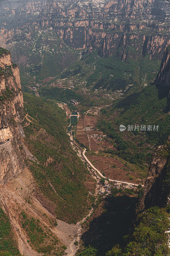
[[[156,84],[159,90],[165,91],[166,96],[170,97],[170,45],[164,52]]]

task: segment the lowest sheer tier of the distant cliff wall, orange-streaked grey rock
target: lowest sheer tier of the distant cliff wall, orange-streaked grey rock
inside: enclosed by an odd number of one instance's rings
[[[149,29],[147,24],[125,26],[84,20],[72,24],[53,22],[52,27],[57,35],[74,49],[88,49],[89,53],[96,50],[102,57],[118,54],[122,60],[127,57],[136,60],[147,54],[150,59],[154,55],[158,55],[161,59],[163,52],[170,44],[168,35],[146,36],[142,29]]]

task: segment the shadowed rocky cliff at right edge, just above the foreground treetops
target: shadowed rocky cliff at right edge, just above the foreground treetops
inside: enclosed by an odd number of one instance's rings
[[[170,137],[169,139],[170,140]],[[163,184],[169,161],[168,146],[159,146],[152,156],[151,165],[145,182],[144,194],[137,207],[137,212],[166,203],[169,195],[169,185]],[[164,188],[164,186],[166,188]],[[162,191],[164,193],[162,193]]]

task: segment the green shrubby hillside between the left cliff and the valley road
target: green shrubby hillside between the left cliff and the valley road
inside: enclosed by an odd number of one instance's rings
[[[66,114],[53,100],[28,94],[24,94],[24,100],[25,113],[31,116],[29,125],[28,120],[24,121],[25,142],[39,161],[39,164],[31,162],[30,169],[39,189],[51,202],[49,211],[61,220],[75,223],[87,204],[84,186],[87,171],[70,147]]]

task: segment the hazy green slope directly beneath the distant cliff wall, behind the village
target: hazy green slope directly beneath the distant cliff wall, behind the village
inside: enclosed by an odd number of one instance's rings
[[[125,90],[129,85],[140,89],[144,84],[154,81],[159,66],[160,60],[149,60],[148,56],[137,61],[122,61],[117,55],[102,58],[93,52],[91,55],[82,55],[81,60],[64,70],[60,76],[87,81],[87,87],[93,89]]]

